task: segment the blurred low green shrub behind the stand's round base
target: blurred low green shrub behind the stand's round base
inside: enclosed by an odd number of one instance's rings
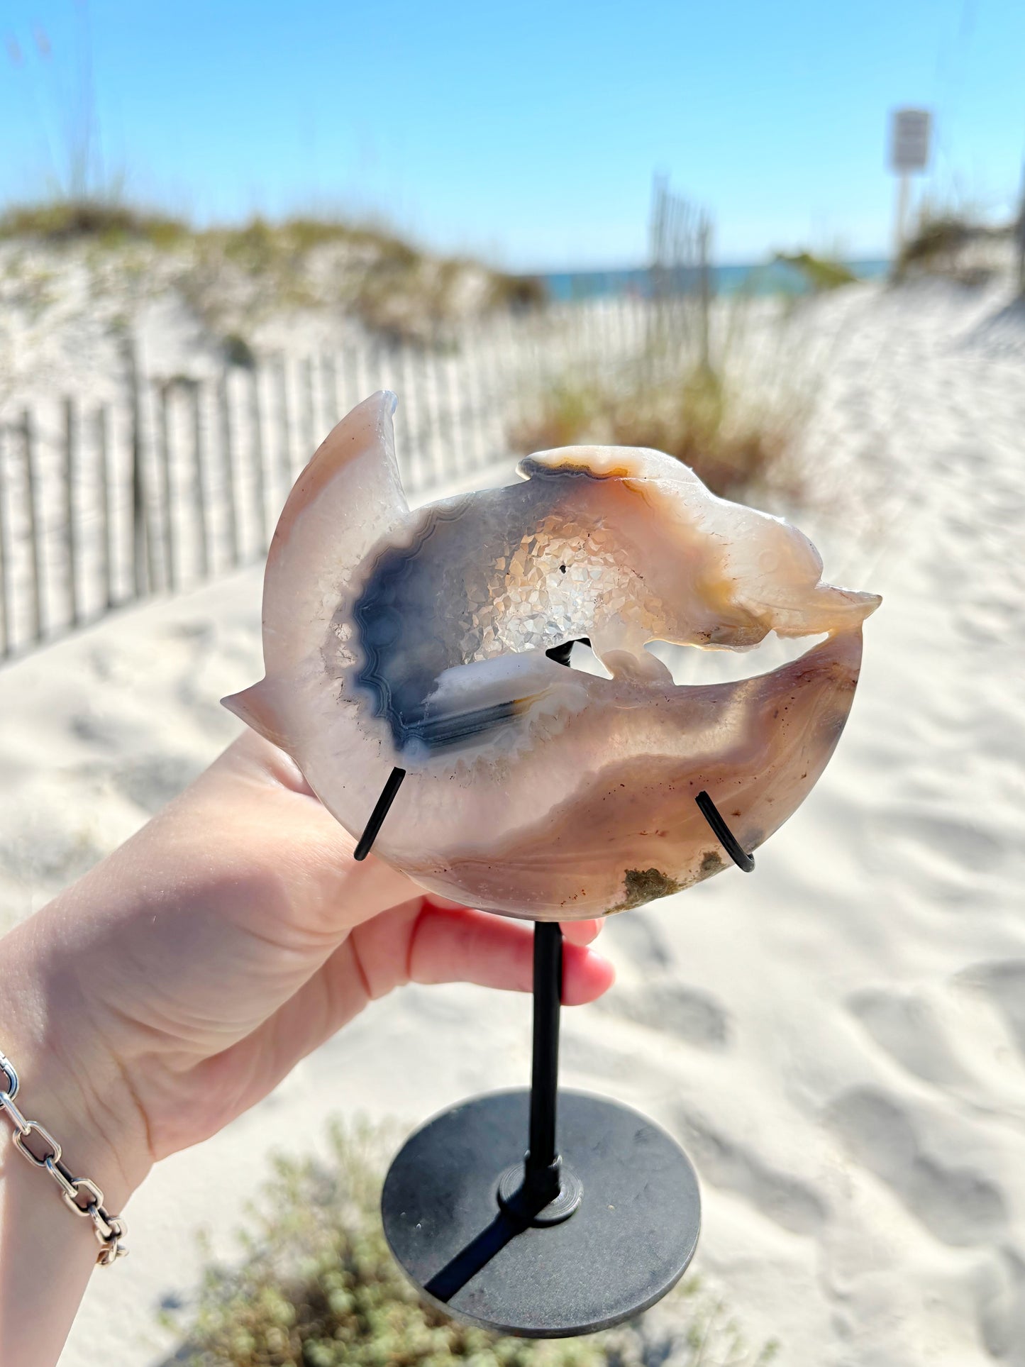
[[[235,1266],[210,1263],[174,1363],[187,1367],[761,1367],[696,1280],[637,1325],[537,1342],[456,1323],[420,1300],[381,1230],[387,1135],[333,1126],[328,1162],[279,1158]],[[164,1315],[182,1333],[182,1315]]]

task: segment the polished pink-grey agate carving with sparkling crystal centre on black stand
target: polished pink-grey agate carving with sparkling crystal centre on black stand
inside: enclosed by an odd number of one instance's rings
[[[850,711],[879,597],[821,582],[786,522],[668,455],[567,447],[523,483],[411,513],[395,398],[299,476],[264,584],[266,677],[227,707],[286,749],[374,854],[473,906],[574,920],[718,872],[707,790],[746,850],[797,809]],[[827,638],[737,684],[676,686],[649,641]],[[545,652],[589,638],[611,678]]]

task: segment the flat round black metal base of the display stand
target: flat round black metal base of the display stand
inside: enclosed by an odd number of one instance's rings
[[[522,1163],[529,1102],[477,1096],[418,1129],[384,1181],[384,1233],[428,1300],[459,1319],[526,1338],[608,1329],[660,1300],[694,1256],[694,1169],[637,1111],[560,1091],[559,1144],[581,1199],[558,1223],[528,1225],[497,1191]]]

